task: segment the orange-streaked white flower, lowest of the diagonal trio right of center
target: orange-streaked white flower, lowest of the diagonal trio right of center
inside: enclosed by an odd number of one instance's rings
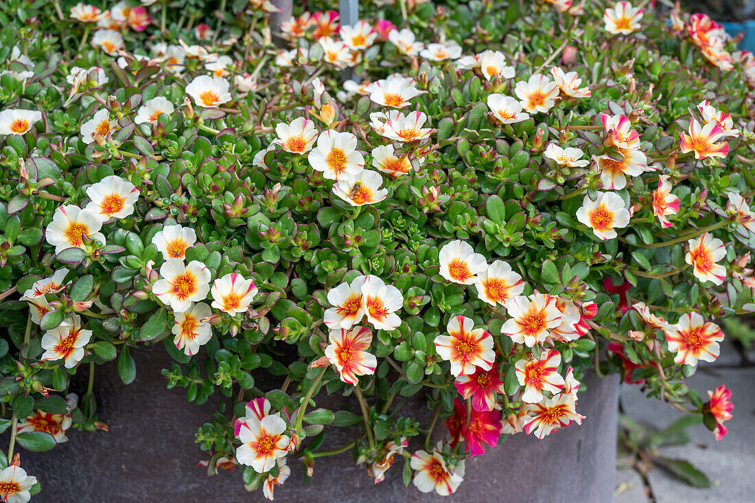
[[[511,317],[501,327],[517,344],[532,347],[543,342],[550,331],[561,324],[561,312],[556,307],[556,297],[543,293],[532,293],[513,297],[507,306]]]

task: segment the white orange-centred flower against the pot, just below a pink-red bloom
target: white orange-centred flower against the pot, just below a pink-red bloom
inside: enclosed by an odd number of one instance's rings
[[[285,421],[277,415],[246,421],[239,430],[242,445],[236,448],[236,461],[251,466],[258,474],[269,472],[279,458],[288,454],[290,439],[284,435],[285,430]]]

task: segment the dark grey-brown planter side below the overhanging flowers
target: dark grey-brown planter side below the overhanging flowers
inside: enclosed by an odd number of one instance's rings
[[[162,346],[140,348],[133,357],[137,378],[129,386],[120,381],[114,362],[97,369],[97,414],[109,433],[69,430],[69,442],[51,451],[19,449],[23,467],[42,482],[33,501],[267,501],[261,489],[245,491],[238,471],[207,477],[206,469],[197,467],[209,456],[194,443],[194,435],[217,411],[217,397],[198,406],[186,402],[183,389],[167,390],[160,371],[169,368],[171,359]],[[347,452],[317,459],[309,486],[302,481],[300,462],[289,458],[291,477],[276,487],[276,500],[612,501],[618,375],[599,379],[590,374],[584,384],[589,392],[581,393],[577,406],[587,416],[581,426],[542,440],[519,433],[485,455],[467,459],[464,483],[448,498],[421,493],[413,485],[405,489],[401,460],[375,486]],[[430,415],[427,408],[404,413],[419,416],[421,424]],[[353,439],[355,430],[343,430],[328,431],[328,446]],[[446,431],[439,424],[436,436],[441,435]]]

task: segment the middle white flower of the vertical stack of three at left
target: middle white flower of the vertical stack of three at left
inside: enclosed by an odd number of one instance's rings
[[[174,312],[189,309],[194,302],[205,300],[210,291],[211,272],[202,262],[192,260],[185,265],[182,259],[167,259],[160,266],[160,279],[152,291]]]

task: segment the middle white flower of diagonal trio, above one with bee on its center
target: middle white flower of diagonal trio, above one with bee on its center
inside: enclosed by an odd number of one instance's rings
[[[365,157],[356,150],[356,136],[350,132],[323,131],[307,156],[310,166],[328,180],[341,180],[365,168]]]

